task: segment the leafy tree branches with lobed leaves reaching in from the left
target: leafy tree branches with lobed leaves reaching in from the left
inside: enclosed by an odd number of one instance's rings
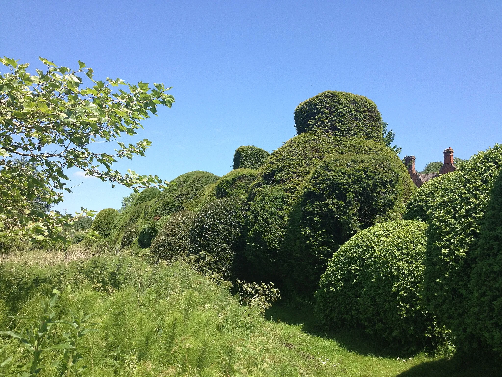
[[[112,154],[91,147],[116,140],[122,133],[135,135],[143,119],[155,115],[159,105],[171,107],[174,98],[163,84],[150,88],[144,82],[112,93],[112,87],[123,85],[123,80],[96,81],[93,70],[80,61],[73,71],[40,60],[47,68],[31,75],[26,71],[28,63],[0,58],[9,70],[0,74],[0,239],[20,236],[53,243],[64,241],[60,232],[71,215],[36,214],[32,203],[39,198],[52,206],[63,200],[63,193],[71,189],[63,182],[68,180],[64,169],[77,167],[112,186],[120,183],[135,191],[162,186],[157,176],[112,169],[118,158],[145,155],[149,140],[127,146],[118,142]],[[92,87],[81,87],[79,74],[85,74]],[[25,157],[30,165],[19,166],[16,157]]]

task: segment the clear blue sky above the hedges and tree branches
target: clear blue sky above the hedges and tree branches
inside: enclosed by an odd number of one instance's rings
[[[366,96],[417,168],[447,147],[502,142],[502,2],[0,2],[0,55],[42,56],[95,77],[164,82],[176,103],[144,122],[147,157],[117,164],[171,180],[270,152],[324,90]],[[0,68],[0,71],[3,71]],[[114,147],[114,146],[111,146]],[[124,187],[69,173],[60,210],[119,208]]]

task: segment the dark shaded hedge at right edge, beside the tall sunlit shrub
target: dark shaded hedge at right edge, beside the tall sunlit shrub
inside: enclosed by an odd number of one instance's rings
[[[473,251],[470,279],[471,310],[469,332],[480,339],[482,348],[502,356],[502,173],[491,190]]]

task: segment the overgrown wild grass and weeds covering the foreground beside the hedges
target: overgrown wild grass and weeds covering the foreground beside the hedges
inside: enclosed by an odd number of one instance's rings
[[[0,375],[495,375],[424,353],[403,359],[358,333],[316,332],[306,310],[276,306],[264,318],[263,303],[245,306],[229,282],[182,263],[72,258],[1,265],[0,330],[11,333],[0,337]]]

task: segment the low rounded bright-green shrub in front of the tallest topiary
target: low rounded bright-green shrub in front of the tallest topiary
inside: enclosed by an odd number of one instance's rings
[[[316,293],[320,323],[362,326],[400,349],[430,343],[434,318],[421,297],[426,228],[415,220],[382,223],[343,244]]]

